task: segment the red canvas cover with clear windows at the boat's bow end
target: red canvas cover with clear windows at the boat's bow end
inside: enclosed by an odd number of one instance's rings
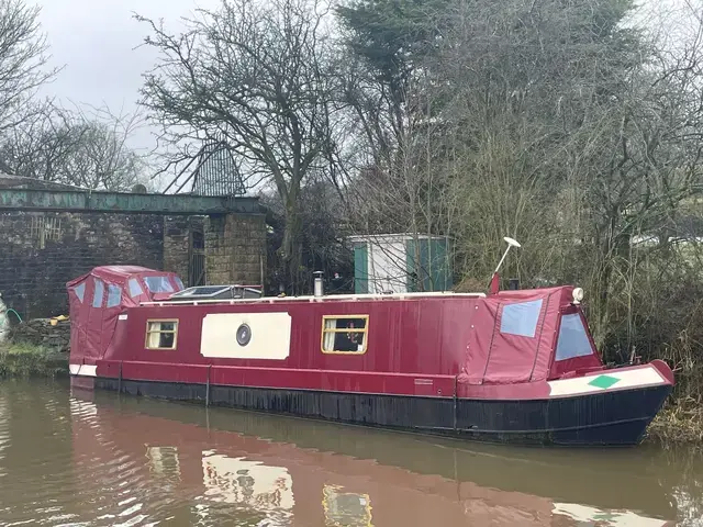
[[[600,358],[590,335],[588,338],[577,335],[576,318],[569,318],[565,325],[565,344],[560,349],[565,357],[572,351],[579,356],[555,360],[562,312],[578,313],[582,318],[580,310],[571,304],[572,290],[571,287],[560,287],[503,291],[482,299],[471,319],[466,367],[460,382],[507,384],[543,381],[574,368],[599,366]],[[588,335],[588,328],[584,332]],[[577,339],[577,344],[580,343],[578,349],[572,345],[573,335],[580,338]],[[587,340],[590,343],[588,349],[583,344]]]

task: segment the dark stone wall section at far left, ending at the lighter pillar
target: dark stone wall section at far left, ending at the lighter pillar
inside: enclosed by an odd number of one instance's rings
[[[9,212],[0,232],[0,292],[25,318],[67,314],[66,282],[96,266],[164,266],[159,215]]]

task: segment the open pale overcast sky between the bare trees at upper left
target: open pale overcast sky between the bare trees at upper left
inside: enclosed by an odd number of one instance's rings
[[[31,0],[30,0],[31,1]],[[64,67],[42,90],[64,101],[107,104],[114,113],[136,109],[141,75],[153,67],[153,49],[134,49],[148,34],[133,13],[164,19],[172,31],[179,19],[197,8],[213,8],[220,0],[34,0],[41,5],[41,23],[51,45],[53,65]],[[135,135],[138,147],[152,147],[144,131]]]

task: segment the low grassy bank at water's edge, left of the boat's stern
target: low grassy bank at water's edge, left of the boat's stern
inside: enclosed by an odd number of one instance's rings
[[[0,378],[68,377],[68,356],[42,346],[3,344],[0,346]]]

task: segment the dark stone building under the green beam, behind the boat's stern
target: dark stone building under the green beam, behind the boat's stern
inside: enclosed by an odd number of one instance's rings
[[[62,199],[68,192],[63,186],[0,176],[0,293],[23,317],[66,314],[66,282],[102,265],[175,271],[190,285],[264,281],[266,223],[258,205],[254,212],[207,215],[181,212],[189,205],[174,215],[10,206],[26,198],[24,189]],[[123,202],[130,197],[110,195]]]

